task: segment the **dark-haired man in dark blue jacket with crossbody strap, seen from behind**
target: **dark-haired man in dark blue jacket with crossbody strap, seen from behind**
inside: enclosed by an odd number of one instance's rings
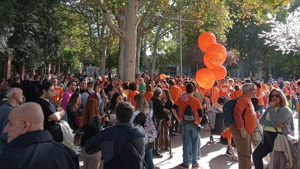
[[[88,154],[101,150],[104,158],[104,169],[142,169],[145,155],[146,133],[140,124],[132,124],[133,107],[130,103],[121,102],[116,108],[117,123],[100,131],[85,143]],[[142,156],[120,130],[122,128],[134,140]]]

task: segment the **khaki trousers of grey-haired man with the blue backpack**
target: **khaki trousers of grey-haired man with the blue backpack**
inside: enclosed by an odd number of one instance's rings
[[[235,143],[237,152],[238,152],[238,168],[239,169],[251,169],[251,140],[252,134],[247,133],[246,138],[241,137],[241,131],[238,128],[231,128],[233,141]]]

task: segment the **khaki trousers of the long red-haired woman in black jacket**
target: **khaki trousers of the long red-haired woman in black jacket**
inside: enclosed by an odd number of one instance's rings
[[[101,152],[88,155],[85,152],[84,147],[82,148],[81,152],[82,152],[84,169],[98,169],[101,161]]]

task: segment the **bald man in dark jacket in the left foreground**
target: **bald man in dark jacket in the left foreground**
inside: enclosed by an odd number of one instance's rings
[[[77,155],[53,141],[43,124],[43,110],[37,103],[22,104],[10,112],[4,129],[8,144],[0,154],[0,168],[79,169]]]

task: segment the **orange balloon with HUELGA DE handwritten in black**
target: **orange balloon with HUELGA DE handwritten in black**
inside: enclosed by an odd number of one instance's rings
[[[214,43],[207,47],[205,55],[208,63],[217,68],[225,62],[227,51],[223,45]]]

